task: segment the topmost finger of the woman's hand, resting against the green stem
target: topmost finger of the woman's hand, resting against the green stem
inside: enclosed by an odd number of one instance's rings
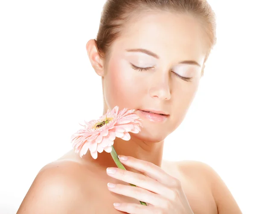
[[[122,157],[126,157],[127,160],[122,160],[121,159]],[[163,169],[161,169],[159,166],[155,165],[154,163],[151,163],[145,160],[139,160],[135,157],[123,156],[123,155],[119,155],[119,160],[120,162],[122,162],[122,164],[143,172],[144,174],[148,175],[154,180],[157,180],[163,185],[166,185],[170,188],[180,187],[180,181],[177,178],[167,174]]]

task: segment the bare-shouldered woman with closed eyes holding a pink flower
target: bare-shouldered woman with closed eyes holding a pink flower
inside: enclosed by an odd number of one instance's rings
[[[107,152],[94,160],[70,151],[41,169],[17,213],[241,214],[209,165],[162,160],[214,45],[215,15],[204,0],[107,0],[86,48],[102,77],[103,113],[119,106],[143,119],[139,134],[114,142],[127,171]]]

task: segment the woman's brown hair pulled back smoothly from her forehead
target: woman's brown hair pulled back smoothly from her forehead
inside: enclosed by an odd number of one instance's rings
[[[99,55],[106,57],[111,43],[119,36],[122,27],[130,17],[140,11],[152,10],[189,13],[198,17],[204,24],[208,39],[208,50],[204,60],[206,62],[216,43],[215,13],[207,0],[107,0],[102,10],[95,40]]]

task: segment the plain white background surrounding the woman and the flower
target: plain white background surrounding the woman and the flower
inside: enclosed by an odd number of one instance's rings
[[[105,0],[0,2],[0,213],[14,214],[38,171],[102,114],[87,57]],[[256,213],[256,33],[252,0],[209,0],[218,42],[197,97],[164,158],[218,172],[243,213]],[[186,148],[184,152],[183,148]]]

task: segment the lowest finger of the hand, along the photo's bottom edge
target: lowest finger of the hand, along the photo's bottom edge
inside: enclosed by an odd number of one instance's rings
[[[141,204],[134,204],[134,203],[118,203],[118,206],[114,205],[119,211],[123,211],[129,214],[156,214],[156,213],[163,213],[160,208],[157,207],[148,207]]]

